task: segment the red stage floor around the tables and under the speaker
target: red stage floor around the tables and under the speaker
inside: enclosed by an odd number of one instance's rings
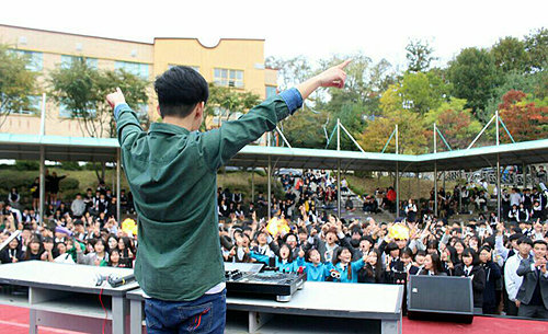
[[[503,318],[476,316],[473,323],[455,324],[430,321],[413,321],[403,316],[403,333],[444,333],[444,334],[515,334],[516,332],[536,334],[546,333],[548,322],[514,320]],[[27,334],[28,309],[2,306],[0,308],[0,334]],[[41,327],[41,334],[75,334],[57,329]],[[95,334],[95,333],[93,333]]]

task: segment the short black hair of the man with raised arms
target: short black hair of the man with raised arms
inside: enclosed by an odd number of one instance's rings
[[[199,102],[207,102],[207,81],[196,70],[187,66],[174,66],[156,79],[162,117],[186,117]]]

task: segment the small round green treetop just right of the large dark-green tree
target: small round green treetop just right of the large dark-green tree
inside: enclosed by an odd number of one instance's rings
[[[525,73],[529,71],[529,56],[525,51],[525,43],[515,37],[500,38],[491,49],[494,64],[504,72],[517,71]]]

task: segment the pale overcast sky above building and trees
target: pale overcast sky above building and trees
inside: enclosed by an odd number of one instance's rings
[[[2,1],[0,23],[152,43],[153,37],[264,38],[265,56],[310,59],[363,51],[406,65],[413,38],[443,65],[461,48],[548,27],[546,0]]]

